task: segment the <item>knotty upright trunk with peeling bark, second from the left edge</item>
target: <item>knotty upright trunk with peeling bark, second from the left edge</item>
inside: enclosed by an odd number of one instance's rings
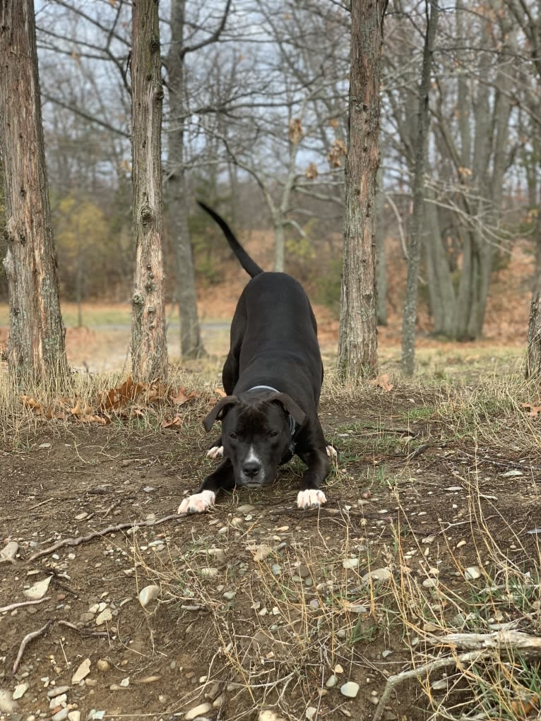
[[[132,5],[133,222],[136,270],[132,296],[133,378],[167,379],[164,271],[162,260],[162,62],[158,4]]]

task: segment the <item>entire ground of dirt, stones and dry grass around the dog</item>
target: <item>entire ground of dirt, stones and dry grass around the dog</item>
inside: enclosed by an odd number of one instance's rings
[[[110,308],[84,309],[101,321],[69,330],[70,362],[102,375],[79,373],[50,412],[50,392],[23,404],[3,376],[0,719],[540,718],[527,288],[496,293],[501,313],[491,307],[475,345],[434,340],[421,319],[413,381],[397,372],[391,319],[382,376],[355,388],[333,378],[337,323],[318,308],[320,415],[338,449],[327,504],[296,509],[293,461],[265,490],[179,518],[214,464],[201,418],[235,297],[206,293],[209,358],[108,412],[110,389],[126,388],[128,306],[115,322]]]

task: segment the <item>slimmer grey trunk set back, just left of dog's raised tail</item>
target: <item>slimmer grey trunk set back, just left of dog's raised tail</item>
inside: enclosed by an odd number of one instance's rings
[[[182,358],[206,355],[201,340],[195,292],[193,252],[188,229],[188,194],[184,167],[184,15],[185,0],[171,3],[171,49],[167,55],[169,75],[170,132],[167,201],[172,244],[177,260],[177,298]]]

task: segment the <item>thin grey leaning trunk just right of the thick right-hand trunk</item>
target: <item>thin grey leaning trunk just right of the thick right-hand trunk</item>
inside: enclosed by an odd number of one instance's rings
[[[436,1],[430,1],[430,17],[426,20],[425,45],[423,50],[423,69],[419,87],[418,137],[415,149],[415,171],[413,174],[413,214],[411,218],[411,236],[408,249],[408,277],[402,324],[402,371],[413,376],[415,368],[415,324],[417,322],[417,293],[421,247],[423,241],[424,218],[424,173],[428,151],[428,93],[430,92],[430,74],[432,52],[438,28],[439,9]],[[427,14],[428,14],[428,0]]]

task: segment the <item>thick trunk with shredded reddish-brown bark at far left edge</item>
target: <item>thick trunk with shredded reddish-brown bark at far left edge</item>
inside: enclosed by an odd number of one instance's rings
[[[0,143],[4,158],[9,371],[69,378],[50,227],[33,0],[0,3]]]

